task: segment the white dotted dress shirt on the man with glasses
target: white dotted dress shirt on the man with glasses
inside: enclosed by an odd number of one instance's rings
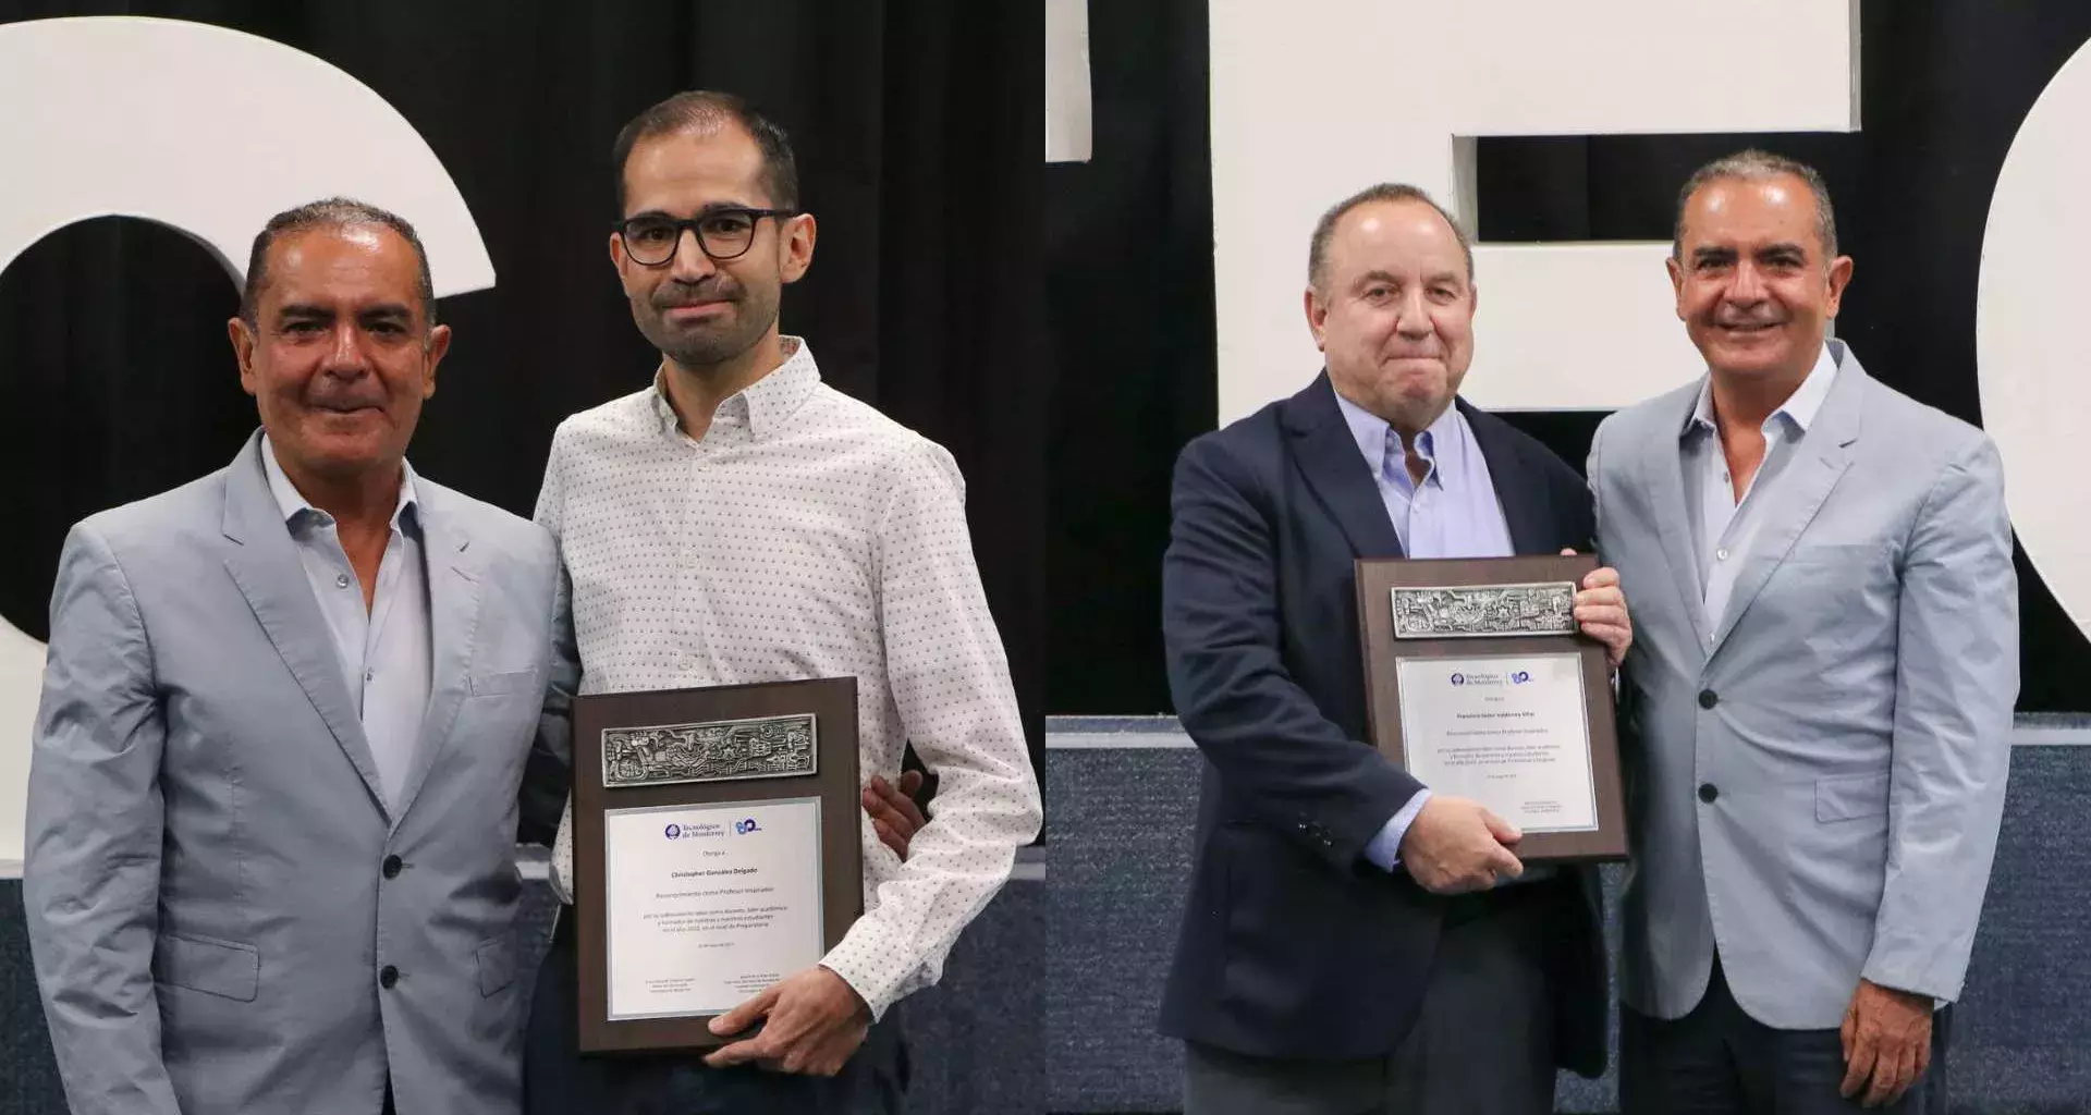
[[[857,678],[857,770],[914,743],[937,774],[903,864],[864,826],[864,906],[822,958],[874,1017],[928,987],[1041,822],[1008,659],[941,446],[826,387],[813,354],[690,439],[661,393],[560,423],[537,496],[558,540],[579,692]],[[562,617],[565,619],[565,617]],[[571,902],[573,803],[552,849]]]

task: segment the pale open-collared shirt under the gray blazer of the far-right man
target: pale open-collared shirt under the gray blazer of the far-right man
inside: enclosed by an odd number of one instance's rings
[[[1807,437],[1809,425],[1830,397],[1836,383],[1836,360],[1830,345],[1815,358],[1815,368],[1800,387],[1765,418],[1765,460],[1750,477],[1750,485],[1736,498],[1736,483],[1729,479],[1727,454],[1721,452],[1721,433],[1713,423],[1713,379],[1700,383],[1700,400],[1683,429],[1683,471],[1685,471],[1685,519],[1692,523],[1692,546],[1698,552],[1700,594],[1706,607],[1706,640],[1721,625],[1727,613],[1727,598],[1736,590],[1736,573],[1742,569],[1756,536],[1765,523],[1761,508],[1786,462],[1794,456],[1794,446]]]

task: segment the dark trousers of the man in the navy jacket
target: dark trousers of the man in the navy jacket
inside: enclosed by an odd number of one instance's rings
[[[1186,1042],[1184,1115],[1554,1115],[1547,891],[1453,902],[1416,1029],[1386,1056],[1290,1061]]]

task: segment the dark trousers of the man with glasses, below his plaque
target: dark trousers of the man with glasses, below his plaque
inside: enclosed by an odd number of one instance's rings
[[[581,1056],[573,912],[560,916],[537,969],[523,1040],[527,1115],[897,1115],[907,1050],[891,1015],[832,1077],[736,1065],[709,1069],[700,1054]]]

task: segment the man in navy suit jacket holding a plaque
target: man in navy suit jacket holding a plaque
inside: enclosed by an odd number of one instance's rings
[[[1472,249],[1426,195],[1322,218],[1307,320],[1326,372],[1192,441],[1163,563],[1169,688],[1207,757],[1163,1031],[1188,1115],[1552,1113],[1606,1056],[1593,870],[1434,797],[1365,728],[1353,561],[1587,548],[1583,479],[1457,400]],[[1616,667],[1610,569],[1577,594]]]

